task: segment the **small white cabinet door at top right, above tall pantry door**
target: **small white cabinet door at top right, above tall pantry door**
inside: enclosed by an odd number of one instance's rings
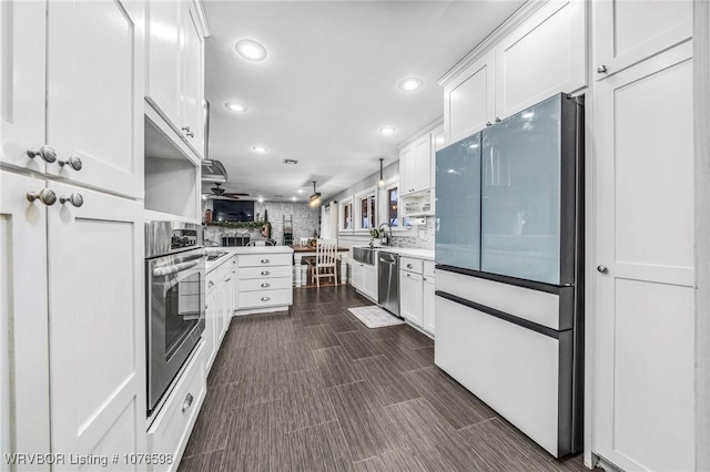
[[[692,37],[692,1],[595,1],[594,74],[606,79]]]

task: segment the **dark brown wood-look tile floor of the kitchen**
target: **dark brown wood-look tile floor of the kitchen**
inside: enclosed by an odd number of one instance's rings
[[[557,461],[434,366],[407,326],[368,329],[349,286],[234,318],[180,471],[586,471]]]

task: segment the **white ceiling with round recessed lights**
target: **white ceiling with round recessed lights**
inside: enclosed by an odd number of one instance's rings
[[[397,144],[443,116],[436,81],[523,3],[204,1],[210,148],[230,174],[225,187],[307,201],[315,179],[327,198],[376,172],[379,156],[396,161]],[[266,60],[241,58],[240,39],[263,44]],[[424,86],[400,92],[408,76]],[[250,110],[230,112],[227,101]],[[378,134],[384,125],[397,132]]]

